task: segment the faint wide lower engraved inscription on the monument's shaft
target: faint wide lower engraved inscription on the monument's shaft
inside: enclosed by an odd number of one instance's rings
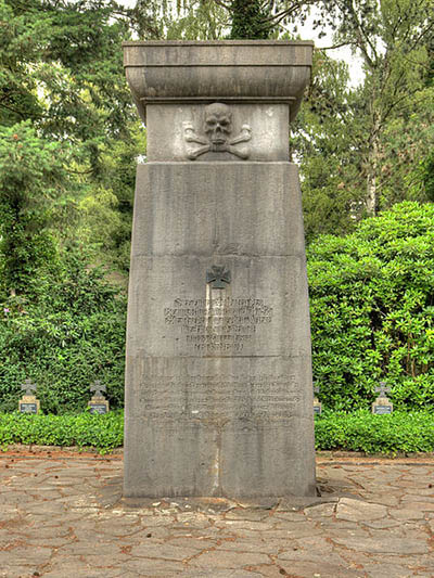
[[[150,418],[291,418],[301,401],[294,375],[151,375],[138,407]]]

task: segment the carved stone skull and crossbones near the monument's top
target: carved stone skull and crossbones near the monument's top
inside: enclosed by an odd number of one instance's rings
[[[204,153],[230,153],[239,158],[248,158],[250,149],[243,146],[235,147],[240,142],[247,142],[252,138],[252,130],[248,125],[241,127],[241,132],[238,137],[231,139],[232,132],[232,113],[227,104],[215,102],[205,108],[204,132],[206,137],[200,137],[195,133],[194,127],[191,123],[184,123],[184,140],[186,142],[195,142],[202,144],[199,149],[189,149],[187,156],[191,160],[195,160]]]

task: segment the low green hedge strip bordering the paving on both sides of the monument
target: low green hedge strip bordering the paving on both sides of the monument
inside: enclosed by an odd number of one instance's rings
[[[367,410],[354,413],[324,412],[315,419],[317,450],[397,452],[434,451],[434,415],[426,412],[394,412],[373,415]],[[124,412],[105,415],[0,414],[0,446],[78,446],[101,453],[122,447]]]

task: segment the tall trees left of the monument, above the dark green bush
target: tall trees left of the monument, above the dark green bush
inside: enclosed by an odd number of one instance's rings
[[[10,264],[9,291],[23,292],[50,258],[48,246],[65,239],[126,270],[135,157],[144,152],[122,64],[131,11],[111,0],[0,0],[0,259]]]

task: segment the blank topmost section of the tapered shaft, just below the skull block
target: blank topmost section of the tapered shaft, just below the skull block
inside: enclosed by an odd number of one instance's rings
[[[132,257],[304,257],[291,163],[146,163],[135,203]]]

